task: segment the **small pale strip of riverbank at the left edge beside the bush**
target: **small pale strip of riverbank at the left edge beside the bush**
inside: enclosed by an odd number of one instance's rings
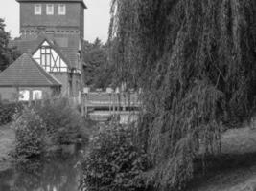
[[[0,172],[9,169],[12,165],[12,153],[15,147],[15,133],[11,125],[0,126]]]

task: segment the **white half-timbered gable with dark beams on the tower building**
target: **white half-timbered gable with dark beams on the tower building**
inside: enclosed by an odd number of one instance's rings
[[[45,40],[33,53],[35,61],[46,71],[51,73],[66,73],[68,65],[60,53]]]

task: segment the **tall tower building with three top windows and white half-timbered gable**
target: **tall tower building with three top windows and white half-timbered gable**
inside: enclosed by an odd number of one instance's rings
[[[10,43],[61,83],[60,96],[81,101],[83,0],[16,0],[20,37]],[[0,92],[1,94],[1,92]]]

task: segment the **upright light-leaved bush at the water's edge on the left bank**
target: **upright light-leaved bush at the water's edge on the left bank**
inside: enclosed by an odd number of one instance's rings
[[[16,131],[16,158],[28,159],[43,153],[46,127],[33,109],[25,108],[12,127]]]

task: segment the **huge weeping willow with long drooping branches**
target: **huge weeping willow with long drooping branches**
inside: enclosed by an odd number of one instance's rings
[[[256,1],[112,0],[116,79],[142,88],[139,136],[157,190],[182,189],[198,152],[248,119],[256,96]],[[203,149],[203,151],[199,151]]]

